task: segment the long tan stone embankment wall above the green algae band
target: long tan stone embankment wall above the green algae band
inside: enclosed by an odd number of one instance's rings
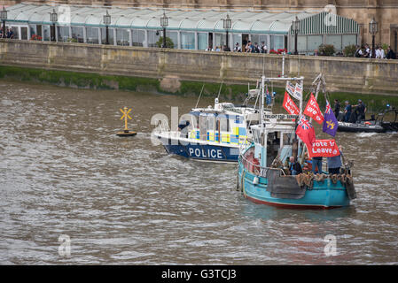
[[[149,78],[170,93],[182,93],[189,91],[182,89],[183,81],[247,86],[261,74],[276,77],[283,57],[2,39],[0,65]],[[330,92],[398,95],[398,60],[285,56],[285,76],[304,76],[305,88],[318,73],[324,73]]]

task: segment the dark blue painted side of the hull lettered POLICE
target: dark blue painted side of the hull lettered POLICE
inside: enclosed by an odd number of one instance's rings
[[[233,147],[223,147],[216,145],[203,145],[197,142],[189,142],[188,144],[171,144],[163,143],[168,154],[176,154],[181,157],[222,162],[237,162],[239,157],[239,149]]]

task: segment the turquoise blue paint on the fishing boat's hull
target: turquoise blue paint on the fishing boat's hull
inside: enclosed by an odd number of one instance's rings
[[[244,175],[243,182],[242,175]],[[305,195],[300,199],[276,198],[272,197],[267,191],[267,179],[259,178],[259,183],[254,184],[254,174],[247,172],[240,162],[238,166],[238,181],[243,185],[242,190],[245,197],[254,203],[313,209],[328,209],[350,204],[347,190],[340,181],[333,184],[329,179],[324,180],[324,182],[314,180],[313,188],[311,190],[307,189]]]

